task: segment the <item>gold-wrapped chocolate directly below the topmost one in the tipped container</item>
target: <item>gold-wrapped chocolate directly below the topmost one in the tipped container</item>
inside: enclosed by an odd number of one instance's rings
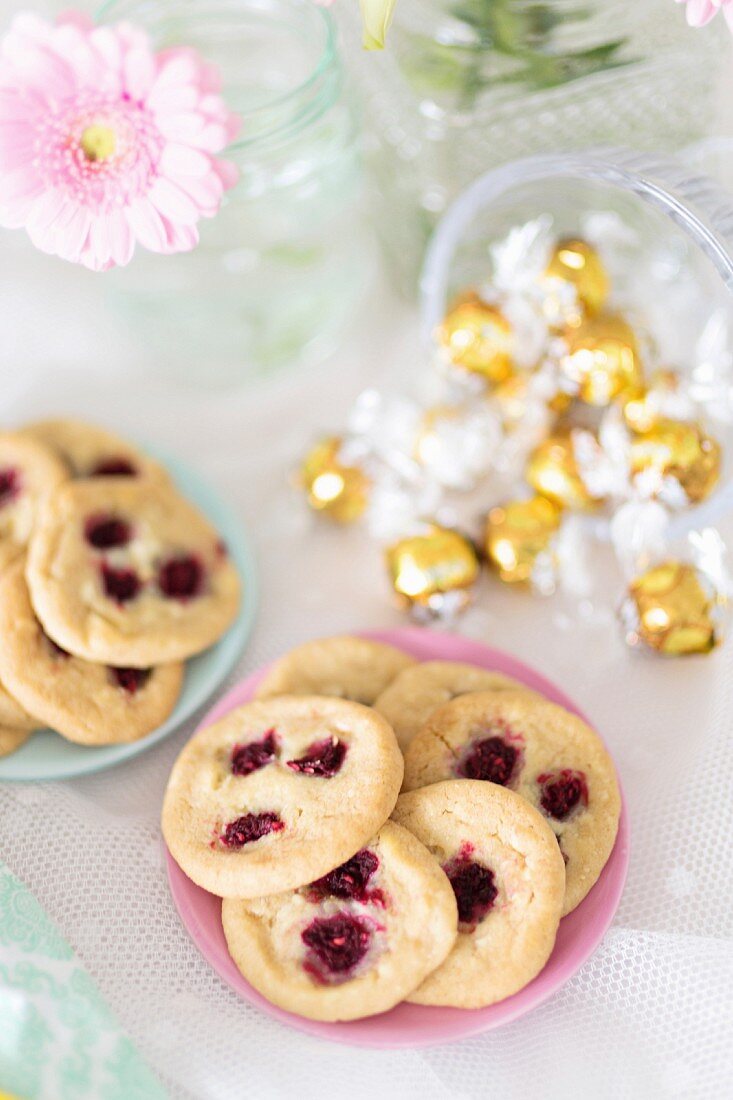
[[[632,327],[619,314],[589,317],[565,333],[560,370],[587,405],[605,408],[643,392],[642,362]]]

